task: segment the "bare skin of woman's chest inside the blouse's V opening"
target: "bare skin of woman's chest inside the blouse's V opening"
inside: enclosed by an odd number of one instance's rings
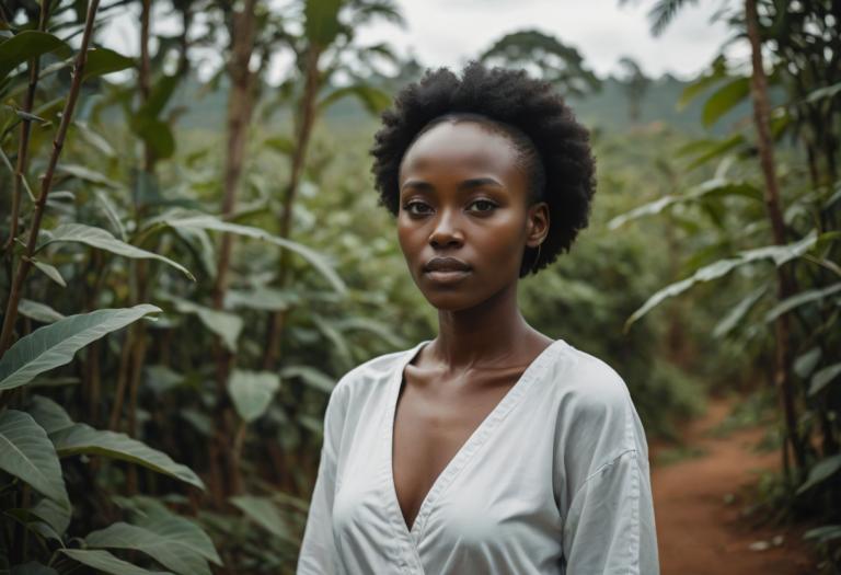
[[[404,377],[394,415],[392,473],[408,529],[436,480],[515,386],[520,371],[470,382]]]

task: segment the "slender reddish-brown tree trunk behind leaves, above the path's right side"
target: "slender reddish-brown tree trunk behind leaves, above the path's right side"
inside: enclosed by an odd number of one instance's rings
[[[745,1],[745,20],[750,39],[751,61],[753,73],[750,82],[750,95],[753,101],[753,123],[757,128],[757,147],[765,180],[764,202],[768,217],[771,221],[774,243],[783,245],[785,239],[785,222],[780,202],[780,187],[776,182],[774,150],[769,128],[770,105],[768,101],[768,82],[762,67],[762,45],[759,36],[759,18],[756,0]],[[785,266],[776,268],[776,297],[782,301],[794,292],[793,279]],[[791,324],[787,313],[782,313],[774,322],[774,384],[780,393],[780,403],[785,418],[786,439],[791,444],[794,456],[795,472],[800,473],[805,468],[805,448],[797,432],[797,413],[794,398],[794,382],[791,377],[792,344]],[[795,478],[799,481],[799,476]]]

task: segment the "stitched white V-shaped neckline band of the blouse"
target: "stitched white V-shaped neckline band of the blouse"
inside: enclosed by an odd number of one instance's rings
[[[398,498],[396,483],[394,482],[394,423],[396,418],[396,406],[400,396],[400,389],[403,384],[403,372],[408,364],[417,357],[420,349],[430,342],[426,340],[415,347],[405,352],[405,355],[396,366],[389,386],[389,412],[384,418],[385,433],[385,476],[388,478],[389,507],[391,507],[393,519],[399,524],[401,534],[407,536],[415,544],[420,541],[423,528],[426,518],[434,508],[437,498],[447,490],[449,484],[456,479],[456,475],[468,463],[471,456],[484,444],[491,432],[498,425],[505,415],[515,406],[517,401],[526,392],[529,383],[535,379],[539,368],[549,359],[549,356],[564,343],[563,340],[555,340],[549,344],[526,367],[517,381],[505,393],[502,400],[493,410],[482,419],[479,426],[470,434],[468,439],[456,451],[450,461],[445,465],[441,472],[433,482],[429,491],[420,502],[420,507],[415,515],[410,529],[400,508]]]

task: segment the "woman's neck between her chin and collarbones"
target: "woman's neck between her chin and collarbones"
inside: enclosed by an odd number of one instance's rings
[[[487,365],[515,355],[533,335],[517,306],[517,281],[480,306],[438,311],[438,337],[431,355],[449,369]]]

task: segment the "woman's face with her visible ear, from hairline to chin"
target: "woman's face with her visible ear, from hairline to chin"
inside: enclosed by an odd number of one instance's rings
[[[469,309],[516,287],[526,246],[545,238],[546,205],[528,205],[518,154],[508,138],[469,120],[438,124],[404,154],[398,238],[437,309]]]

